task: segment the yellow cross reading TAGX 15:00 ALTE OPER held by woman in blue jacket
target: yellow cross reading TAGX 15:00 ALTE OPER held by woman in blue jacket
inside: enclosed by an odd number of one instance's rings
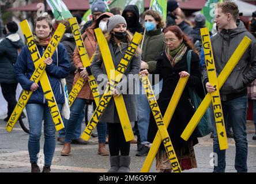
[[[22,28],[22,31],[24,32],[24,37],[27,41],[28,49],[29,49],[29,52],[31,53],[31,57],[36,68],[31,76],[31,81],[38,83],[39,80],[41,80],[43,77],[42,79],[43,81],[41,82],[41,84],[44,90],[44,96],[46,97],[47,104],[50,108],[50,112],[51,112],[52,120],[54,121],[54,124],[55,124],[55,128],[57,129],[57,131],[59,131],[60,129],[64,128],[64,125],[62,122],[61,114],[59,113],[57,103],[52,93],[50,83],[48,81],[48,78],[45,72],[46,64],[44,64],[43,61],[47,57],[51,57],[53,55],[55,49],[57,48],[57,45],[59,44],[59,41],[61,41],[61,38],[66,30],[66,27],[62,24],[59,24],[57,30],[54,33],[54,36],[52,36],[50,44],[47,46],[46,51],[43,53],[42,59],[40,58],[40,54],[37,50],[35,41],[33,40],[33,36],[28,26],[27,20],[21,22],[21,28]],[[8,132],[12,131],[14,125],[16,124],[18,118],[22,113],[22,110],[24,109],[25,105],[27,105],[27,102],[31,97],[32,93],[33,91],[24,91],[21,94],[21,97],[18,100],[17,105],[13,110],[12,116],[7,122],[6,130]]]

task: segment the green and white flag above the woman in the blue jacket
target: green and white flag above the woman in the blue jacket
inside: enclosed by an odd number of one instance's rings
[[[67,9],[65,3],[61,0],[47,0],[48,5],[51,7],[51,11],[54,14],[56,20],[63,20],[65,18],[72,18],[72,14]]]

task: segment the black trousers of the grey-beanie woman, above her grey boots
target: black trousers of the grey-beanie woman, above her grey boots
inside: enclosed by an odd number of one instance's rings
[[[108,147],[110,156],[129,156],[130,141],[126,142],[121,123],[107,123],[108,128]]]

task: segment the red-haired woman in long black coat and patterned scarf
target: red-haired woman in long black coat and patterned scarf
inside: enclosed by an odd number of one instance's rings
[[[194,106],[190,102],[189,87],[198,88],[201,82],[201,72],[199,71],[199,56],[193,43],[182,32],[179,26],[168,26],[164,29],[164,40],[166,47],[157,56],[156,70],[154,75],[163,78],[163,89],[159,94],[157,103],[162,116],[164,116],[171,97],[174,94],[177,83],[180,78],[189,76],[185,89],[179,99],[175,112],[168,125],[167,131],[170,135],[175,154],[179,160],[181,170],[189,170],[197,167],[195,159],[194,145],[198,143],[198,129],[192,133],[189,140],[183,140],[180,135],[186,128],[191,117],[194,114]],[[187,55],[191,51],[190,74],[187,67]],[[140,72],[141,75],[148,75],[148,70]],[[153,141],[158,131],[155,118],[150,113],[149,123],[149,141]],[[156,170],[160,173],[171,173],[172,166],[168,159],[163,143],[161,143],[156,155]]]

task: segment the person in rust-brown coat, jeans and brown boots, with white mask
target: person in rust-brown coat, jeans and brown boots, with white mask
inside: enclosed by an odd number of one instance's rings
[[[84,39],[84,45],[86,51],[88,53],[89,59],[93,56],[93,53],[96,51],[97,40],[95,36],[94,29],[100,28],[103,32],[107,31],[107,19],[113,16],[112,13],[103,13],[97,20],[93,23],[92,26],[85,30],[85,33],[82,34],[82,38]],[[90,67],[84,68],[82,65],[81,56],[78,52],[78,48],[76,47],[73,53],[73,60],[76,65],[77,73],[74,76],[73,85],[76,84],[80,75],[85,79],[85,84],[82,87],[80,93],[77,95],[73,105],[70,109],[70,118],[66,125],[66,135],[65,135],[65,143],[61,151],[62,156],[68,156],[71,152],[71,141],[74,137],[74,133],[77,125],[81,125],[82,119],[80,118],[80,114],[84,109],[85,104],[91,104],[93,102],[93,107],[96,108],[96,104],[93,101],[93,95],[91,92],[91,88],[88,82],[88,76],[91,75]],[[99,155],[109,155],[108,150],[106,149],[106,136],[107,136],[107,124],[106,122],[99,122],[97,124],[97,133],[99,139],[99,149],[97,154]]]

